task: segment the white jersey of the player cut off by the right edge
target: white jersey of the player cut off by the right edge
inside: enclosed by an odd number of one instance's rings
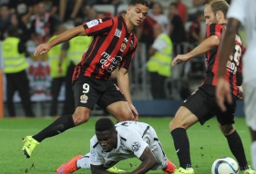
[[[246,28],[246,51],[242,59],[243,81],[256,79],[256,0],[233,0],[227,14]]]

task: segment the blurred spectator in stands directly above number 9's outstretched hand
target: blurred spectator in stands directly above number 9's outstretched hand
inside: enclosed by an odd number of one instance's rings
[[[40,2],[36,5],[36,19],[31,24],[31,38],[36,45],[46,43],[54,33],[56,20],[46,12],[46,5]]]

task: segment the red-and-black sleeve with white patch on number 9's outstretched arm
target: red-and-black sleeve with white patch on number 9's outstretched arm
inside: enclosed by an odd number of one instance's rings
[[[87,35],[108,34],[113,26],[113,20],[109,17],[94,19],[84,25]]]

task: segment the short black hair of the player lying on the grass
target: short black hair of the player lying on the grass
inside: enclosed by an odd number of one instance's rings
[[[95,123],[95,131],[115,131],[115,124],[109,118],[99,119]]]

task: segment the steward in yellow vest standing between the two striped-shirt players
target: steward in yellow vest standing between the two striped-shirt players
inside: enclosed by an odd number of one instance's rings
[[[156,39],[148,50],[151,94],[153,99],[166,99],[164,82],[171,73],[172,43],[160,24],[154,24],[153,29]]]

